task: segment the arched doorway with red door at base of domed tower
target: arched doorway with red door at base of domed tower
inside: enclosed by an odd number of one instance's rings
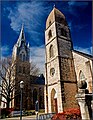
[[[55,89],[53,88],[51,91],[51,111],[52,112],[58,112],[58,108],[57,108],[57,93],[55,91]]]

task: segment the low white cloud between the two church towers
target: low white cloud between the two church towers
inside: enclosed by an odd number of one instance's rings
[[[45,71],[44,46],[30,48],[30,61],[34,62],[36,66],[40,68],[40,72],[44,74],[44,71]]]

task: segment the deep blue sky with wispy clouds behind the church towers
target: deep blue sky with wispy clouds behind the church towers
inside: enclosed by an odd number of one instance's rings
[[[65,16],[71,30],[74,49],[91,54],[92,2],[62,0],[1,0],[1,50],[10,56],[19,37],[22,23],[30,43],[31,60],[44,70],[46,19],[56,6]]]

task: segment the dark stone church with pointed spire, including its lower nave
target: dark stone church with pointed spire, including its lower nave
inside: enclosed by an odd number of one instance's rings
[[[39,76],[31,75],[31,63],[29,62],[30,47],[27,45],[24,28],[22,26],[17,43],[13,47],[12,52],[12,67],[14,81],[14,89],[11,97],[14,99],[11,101],[10,106],[14,110],[20,110],[20,81],[24,82],[23,88],[23,109],[35,110],[35,102],[38,100],[39,109],[44,109],[44,84],[45,78],[43,74]],[[2,97],[3,101],[5,99]],[[1,103],[1,108],[5,108],[4,102]]]

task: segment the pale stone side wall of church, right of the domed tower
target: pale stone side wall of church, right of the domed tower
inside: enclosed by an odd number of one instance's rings
[[[77,81],[80,80],[80,71],[83,72],[86,82],[87,88],[89,92],[92,92],[92,60],[84,55],[80,55],[77,52],[73,51],[74,65]]]

